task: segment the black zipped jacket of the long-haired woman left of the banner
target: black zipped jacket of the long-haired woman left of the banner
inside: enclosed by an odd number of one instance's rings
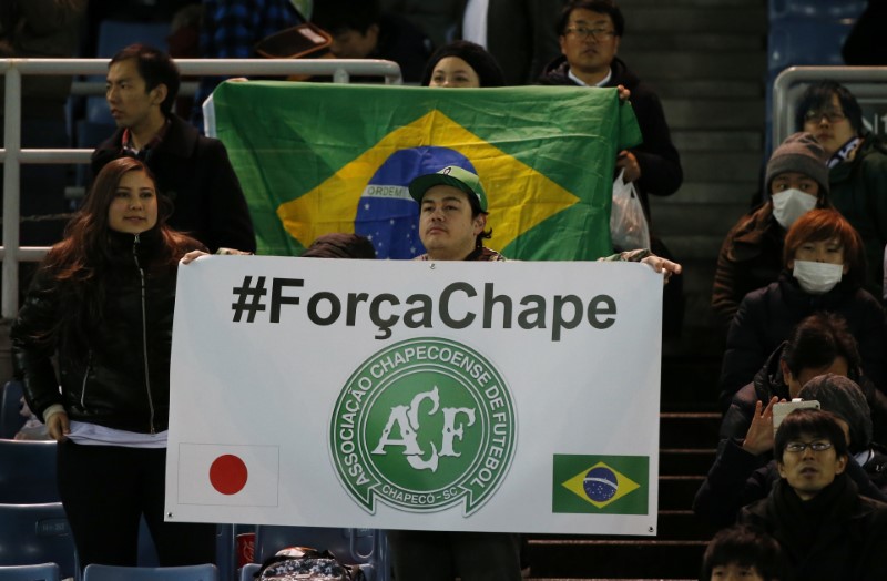
[[[155,259],[160,243],[156,230],[109,236],[102,319],[85,339],[57,329],[62,309],[73,307],[71,284],[38,271],[10,336],[26,400],[39,418],[61,404],[75,421],[142,434],[167,428],[177,265]]]

